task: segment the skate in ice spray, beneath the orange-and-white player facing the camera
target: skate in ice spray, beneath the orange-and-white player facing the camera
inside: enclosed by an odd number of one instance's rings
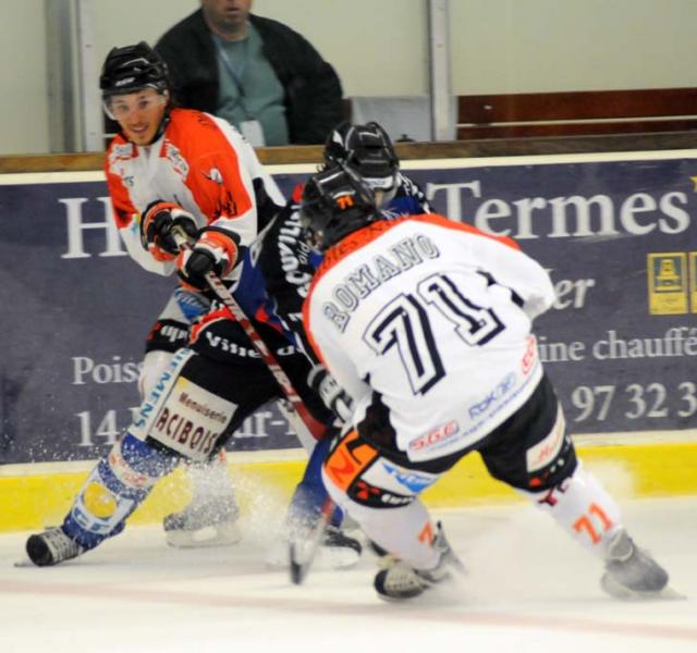
[[[198,497],[180,513],[168,515],[162,526],[170,546],[229,546],[242,539],[239,517],[232,496]]]

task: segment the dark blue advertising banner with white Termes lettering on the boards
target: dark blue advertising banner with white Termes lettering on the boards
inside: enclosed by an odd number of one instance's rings
[[[514,237],[550,271],[557,304],[536,326],[573,432],[695,427],[697,159],[404,168],[436,212]],[[306,177],[271,171],[285,194]],[[95,458],[137,407],[144,338],[175,282],[127,257],[99,173],[0,176],[0,463]],[[230,444],[295,446],[274,406]]]

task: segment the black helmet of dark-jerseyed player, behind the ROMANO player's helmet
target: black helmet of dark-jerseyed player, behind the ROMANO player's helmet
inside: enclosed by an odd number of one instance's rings
[[[327,168],[346,165],[374,190],[389,192],[396,184],[400,160],[388,133],[377,123],[341,123],[325,143]]]

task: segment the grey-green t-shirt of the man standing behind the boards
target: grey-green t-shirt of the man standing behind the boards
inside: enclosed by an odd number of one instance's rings
[[[217,114],[240,128],[256,120],[266,145],[288,145],[283,86],[261,52],[261,38],[247,25],[247,35],[228,41],[213,35],[218,51],[220,95]]]

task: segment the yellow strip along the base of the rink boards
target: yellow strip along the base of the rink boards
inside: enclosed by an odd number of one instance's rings
[[[579,458],[620,501],[697,494],[697,430],[580,436],[576,442],[584,440],[594,443],[577,444]],[[230,454],[228,467],[242,509],[280,509],[302,477],[304,459],[302,449]],[[0,468],[0,531],[60,522],[91,465],[93,461],[85,461]],[[175,471],[160,481],[131,522],[160,521],[186,505],[189,496],[186,478]],[[463,458],[423,497],[433,508],[521,501],[513,490],[488,476],[478,454]]]

